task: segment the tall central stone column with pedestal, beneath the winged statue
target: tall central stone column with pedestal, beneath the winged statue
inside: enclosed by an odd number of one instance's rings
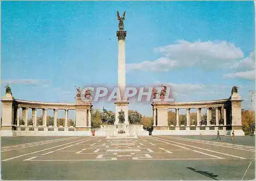
[[[125,92],[125,37],[126,31],[123,29],[119,29],[116,32],[116,36],[118,38],[118,83],[117,86],[120,89],[121,99],[117,99],[115,101],[116,106],[116,116],[115,116],[115,124],[119,123],[118,113],[122,110],[124,111],[124,123],[129,124],[128,121],[128,105],[129,102],[126,98],[124,98]]]

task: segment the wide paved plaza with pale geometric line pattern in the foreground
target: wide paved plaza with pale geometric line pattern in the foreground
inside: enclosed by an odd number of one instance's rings
[[[221,180],[255,177],[255,147],[236,140],[233,144],[176,136],[138,139],[33,137],[31,142],[25,138],[2,138],[2,179]],[[245,142],[253,142],[252,138],[243,137]]]

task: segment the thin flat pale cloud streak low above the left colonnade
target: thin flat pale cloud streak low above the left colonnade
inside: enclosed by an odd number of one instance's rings
[[[33,80],[33,79],[14,79],[3,80],[2,84],[22,84],[22,85],[49,85],[49,80]]]

